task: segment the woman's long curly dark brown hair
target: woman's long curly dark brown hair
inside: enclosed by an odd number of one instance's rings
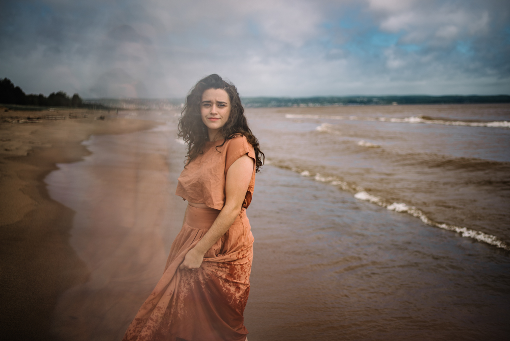
[[[198,81],[190,90],[186,97],[186,103],[181,118],[179,119],[179,137],[182,137],[188,144],[188,157],[186,165],[195,159],[198,154],[202,153],[203,145],[209,139],[206,125],[203,124],[200,115],[200,103],[202,102],[202,94],[209,89],[222,89],[230,98],[231,109],[230,115],[225,125],[220,128],[221,134],[226,140],[236,136],[246,136],[248,142],[255,150],[255,169],[259,172],[260,167],[264,164],[264,153],[260,150],[259,140],[253,135],[248,127],[248,121],[244,115],[244,108],[241,104],[241,98],[234,84],[224,81],[220,76],[213,74]],[[218,147],[221,147],[219,145]]]

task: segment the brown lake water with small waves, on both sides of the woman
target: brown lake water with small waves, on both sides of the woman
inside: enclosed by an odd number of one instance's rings
[[[166,125],[93,137],[91,156],[46,179],[52,197],[77,211],[71,245],[91,269],[89,282],[59,301],[54,332],[64,339],[119,338],[182,222],[184,205],[172,197],[185,155],[177,117],[132,116]],[[250,341],[506,339],[510,106],[266,108],[247,116],[267,160],[247,210],[256,239]],[[147,155],[166,167],[147,169]],[[140,193],[161,200],[148,208],[135,200]],[[86,199],[104,196],[102,205]],[[165,213],[155,220],[147,209]]]

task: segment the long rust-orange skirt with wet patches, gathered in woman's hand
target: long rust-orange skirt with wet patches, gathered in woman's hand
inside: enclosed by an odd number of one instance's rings
[[[163,277],[135,316],[123,340],[244,341],[253,235],[243,208],[206,253],[198,269],[179,270],[186,253],[220,211],[188,205]]]

